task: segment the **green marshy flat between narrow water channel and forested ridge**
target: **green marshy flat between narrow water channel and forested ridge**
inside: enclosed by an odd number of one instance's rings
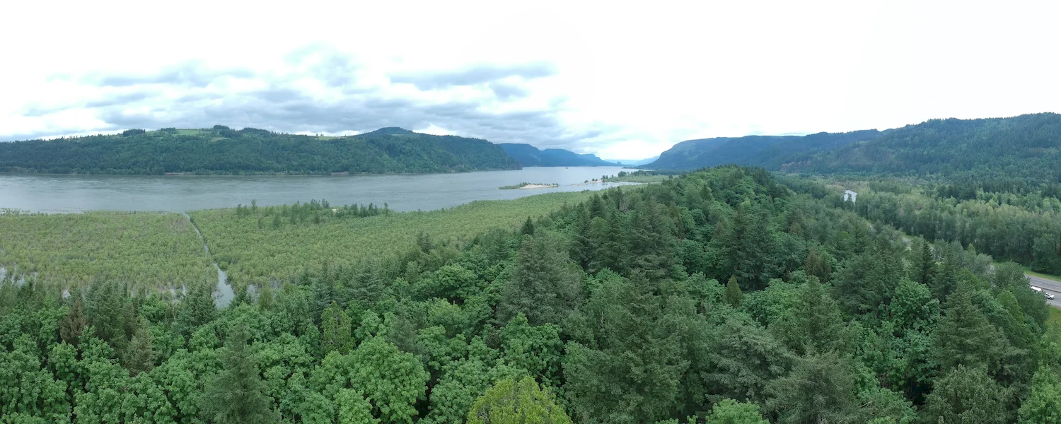
[[[550,193],[515,200],[480,200],[430,212],[291,223],[236,209],[191,212],[210,251],[236,284],[284,280],[323,264],[343,265],[408,249],[423,232],[433,240],[472,237],[493,228],[517,228],[574,205],[592,192]],[[260,208],[262,209],[262,208]],[[279,226],[274,224],[274,218]]]

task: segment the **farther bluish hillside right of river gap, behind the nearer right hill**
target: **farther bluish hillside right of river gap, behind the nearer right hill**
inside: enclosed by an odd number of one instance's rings
[[[875,129],[852,132],[818,132],[808,136],[747,136],[688,140],[660,154],[655,162],[641,165],[648,170],[695,170],[721,164],[764,166],[770,170],[807,160],[815,154],[832,151],[882,135]]]

